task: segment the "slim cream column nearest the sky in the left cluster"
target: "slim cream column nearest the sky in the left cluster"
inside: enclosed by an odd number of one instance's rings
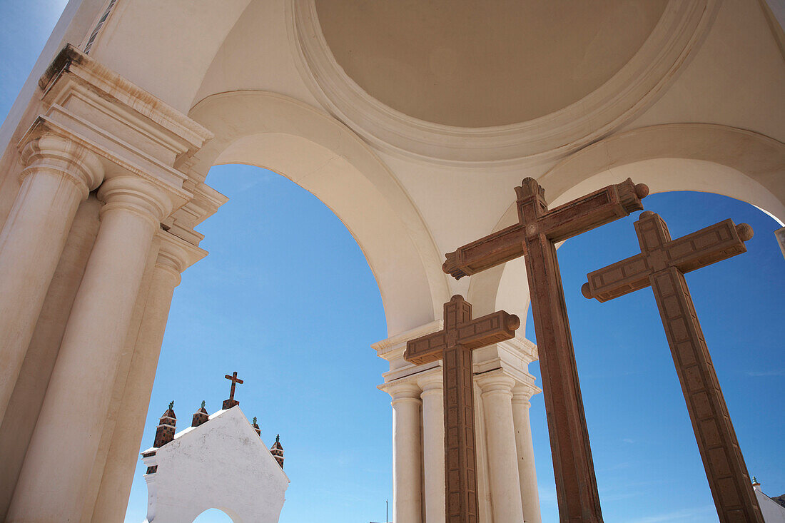
[[[174,288],[180,283],[180,273],[194,258],[206,254],[169,232],[158,234],[158,258],[93,511],[96,522],[122,521],[126,514]],[[189,251],[198,252],[194,256]]]

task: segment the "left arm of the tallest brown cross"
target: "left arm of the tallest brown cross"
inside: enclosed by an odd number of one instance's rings
[[[516,224],[448,253],[442,270],[460,280],[524,255],[524,227]]]

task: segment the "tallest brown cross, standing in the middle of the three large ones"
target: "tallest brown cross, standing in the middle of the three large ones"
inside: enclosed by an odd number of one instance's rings
[[[461,278],[524,256],[560,520],[596,523],[600,498],[555,243],[643,209],[648,187],[628,178],[551,210],[534,179],[515,191],[518,223],[447,254],[442,269]]]

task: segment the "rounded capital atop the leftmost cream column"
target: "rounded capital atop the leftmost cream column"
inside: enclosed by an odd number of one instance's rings
[[[57,134],[31,137],[20,144],[24,169],[21,177],[44,172],[73,182],[86,199],[90,191],[104,180],[104,166],[93,152]]]

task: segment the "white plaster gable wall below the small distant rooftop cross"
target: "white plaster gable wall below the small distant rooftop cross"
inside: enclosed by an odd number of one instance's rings
[[[177,433],[153,459],[145,459],[150,463],[158,470],[145,476],[148,523],[192,523],[210,508],[235,523],[276,523],[289,486],[239,407]]]

